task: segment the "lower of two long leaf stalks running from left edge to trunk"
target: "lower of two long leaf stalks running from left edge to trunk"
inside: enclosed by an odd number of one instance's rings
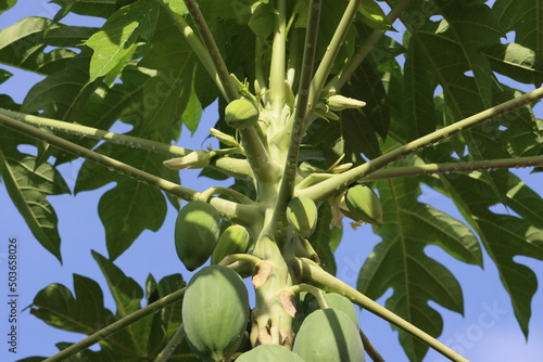
[[[114,158],[90,151],[78,144],[66,141],[58,135],[51,134],[36,127],[26,125],[20,120],[4,116],[2,114],[0,114],[0,125],[11,128],[17,132],[27,134],[31,138],[46,141],[55,147],[70,152],[76,156],[93,161],[100,166],[106,167],[111,170],[130,177],[138,181],[146,182],[151,186],[155,186],[161,190],[167,191],[182,199],[187,201],[197,199],[198,196],[200,195],[200,193],[194,190],[164,180],[160,177],[142,171],[130,165],[121,163]],[[231,217],[232,220],[237,220],[237,222],[241,224],[251,224],[254,221],[253,216],[256,206],[240,205],[218,197],[212,198],[210,204],[212,204],[220,214],[228,215],[229,218]]]

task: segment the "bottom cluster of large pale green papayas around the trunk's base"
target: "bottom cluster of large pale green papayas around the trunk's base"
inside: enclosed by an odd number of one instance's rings
[[[260,345],[239,353],[248,339],[249,295],[241,277],[223,266],[209,266],[189,282],[182,301],[186,338],[205,362],[363,362],[364,346],[358,318],[351,301],[339,294],[325,294],[320,309],[312,295],[301,299],[294,321],[298,333],[292,350]],[[205,302],[202,302],[202,301]],[[295,323],[296,324],[296,323]]]

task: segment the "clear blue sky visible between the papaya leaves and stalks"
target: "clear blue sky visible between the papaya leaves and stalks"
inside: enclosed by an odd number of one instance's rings
[[[30,5],[31,4],[31,5]],[[7,13],[0,15],[0,28],[4,28],[16,20],[24,16],[38,15],[52,17],[58,7],[46,1],[20,0],[18,4]],[[83,20],[76,16],[66,18],[71,24],[77,24]],[[80,23],[79,23],[80,24]],[[3,67],[5,68],[5,67]],[[8,68],[9,69],[9,68]],[[38,78],[23,74],[16,69],[9,69],[15,76],[10,81],[0,85],[0,93],[11,94],[15,101],[22,102],[24,94]],[[531,88],[525,86],[522,90]],[[200,130],[193,135],[184,130],[179,145],[202,148],[207,143],[202,143],[207,135],[206,129],[217,120],[214,109],[204,113]],[[122,132],[123,125],[115,125],[113,131]],[[205,141],[210,142],[210,141]],[[63,165],[61,167],[66,181],[71,186],[75,182],[80,161]],[[184,184],[204,190],[216,184],[206,179],[197,179],[197,171],[184,171],[181,178]],[[542,173],[528,174],[527,170],[519,170],[525,182],[538,193],[543,194]],[[98,281],[104,290],[105,305],[114,310],[114,302],[109,296],[105,282],[98,266],[90,255],[90,250],[97,250],[106,255],[103,227],[98,218],[97,206],[100,196],[113,184],[109,184],[96,192],[84,192],[77,196],[62,195],[51,196],[49,201],[53,204],[59,215],[59,229],[63,238],[62,255],[64,264],[47,253],[29,232],[23,218],[18,215],[15,206],[8,197],[3,186],[0,186],[0,207],[2,221],[0,222],[0,296],[4,303],[5,290],[5,253],[7,241],[15,236],[20,245],[20,307],[24,308],[31,303],[34,296],[50,283],[61,283],[72,287],[72,274],[77,273]],[[421,201],[429,203],[435,208],[443,210],[454,217],[462,219],[452,203],[438,193],[425,189]],[[155,279],[173,273],[182,273],[186,280],[190,279],[188,273],[175,255],[173,243],[173,229],[176,212],[169,206],[167,219],[159,232],[146,231],[137,240],[131,248],[123,254],[116,264],[129,276],[134,277],[140,285],[143,284],[149,273]],[[355,285],[357,273],[362,262],[371,253],[379,238],[374,235],[368,225],[357,231],[344,229],[344,240],[337,251],[338,276],[351,285]],[[428,255],[443,262],[453,270],[455,276],[464,288],[465,316],[452,313],[434,303],[433,308],[440,311],[445,320],[445,326],[441,341],[455,348],[471,361],[540,361],[543,344],[543,292],[540,289],[532,301],[532,319],[530,323],[530,338],[526,342],[520,328],[513,314],[509,298],[502,287],[495,267],[485,256],[484,270],[468,266],[446,255],[437,246],[428,247]],[[529,258],[518,258],[532,268],[539,279],[543,277],[543,264]],[[391,295],[388,290],[383,301]],[[4,308],[0,313],[4,313]],[[399,342],[397,334],[390,325],[379,318],[367,312],[361,313],[361,324],[365,333],[380,350],[387,361],[407,361]],[[0,335],[5,336],[8,328],[7,316],[0,315]],[[15,361],[30,355],[51,355],[56,352],[54,347],[59,341],[78,341],[84,336],[49,327],[38,319],[29,314],[28,310],[20,311],[18,329],[18,353],[14,357],[8,353],[5,342],[0,346],[0,361]],[[425,359],[426,362],[445,361],[440,354],[430,351]]]

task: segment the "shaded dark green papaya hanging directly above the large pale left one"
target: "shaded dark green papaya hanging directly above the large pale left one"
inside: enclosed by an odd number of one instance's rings
[[[220,216],[207,203],[185,205],[175,222],[175,248],[179,260],[192,271],[210,258],[220,233]]]

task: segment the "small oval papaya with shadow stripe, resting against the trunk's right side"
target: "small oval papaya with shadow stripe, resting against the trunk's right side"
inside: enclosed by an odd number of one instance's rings
[[[287,205],[287,219],[296,234],[307,238],[317,227],[317,206],[307,196],[293,197]]]

